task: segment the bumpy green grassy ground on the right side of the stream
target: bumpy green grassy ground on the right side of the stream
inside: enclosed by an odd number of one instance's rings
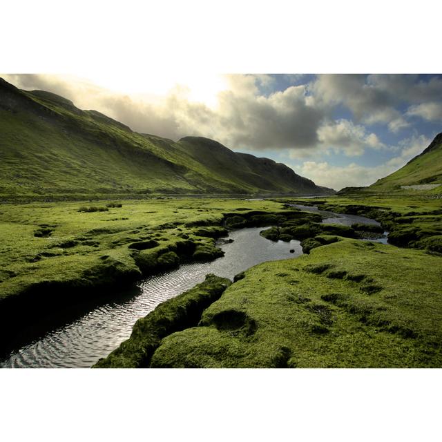
[[[372,216],[392,231],[419,217],[416,225],[427,233],[421,240],[440,227],[434,202],[364,202],[309,204]],[[431,231],[422,229],[425,222]],[[280,238],[287,232],[274,227],[268,233]],[[309,255],[245,271],[204,311],[198,327],[164,337],[149,366],[441,367],[441,254],[416,250],[432,241],[410,241],[407,247],[415,249],[403,249],[343,236],[327,241],[323,233],[311,230]],[[120,365],[111,357],[98,366]]]

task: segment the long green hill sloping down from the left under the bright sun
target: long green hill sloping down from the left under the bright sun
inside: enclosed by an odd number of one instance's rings
[[[283,164],[218,142],[131,131],[64,97],[0,79],[0,198],[332,193]]]

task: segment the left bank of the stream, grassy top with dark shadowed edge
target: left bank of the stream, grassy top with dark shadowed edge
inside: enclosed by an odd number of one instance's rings
[[[281,213],[314,218],[275,202],[231,199],[3,204],[3,353],[39,316],[113,300],[146,276],[211,261],[222,256],[215,240],[228,229],[263,226],[285,219]]]

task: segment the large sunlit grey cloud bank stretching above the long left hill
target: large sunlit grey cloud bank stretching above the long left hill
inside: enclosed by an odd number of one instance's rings
[[[308,97],[305,86],[262,95],[269,75],[227,75],[227,88],[218,93],[218,106],[189,99],[189,89],[175,86],[155,100],[113,93],[87,81],[52,75],[8,75],[20,88],[44,89],[62,95],[79,108],[94,108],[133,130],[177,140],[202,135],[236,149],[309,148],[318,142],[325,113]]]

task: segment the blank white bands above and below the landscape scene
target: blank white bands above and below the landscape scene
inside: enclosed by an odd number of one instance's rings
[[[143,6],[142,6],[143,5]],[[440,73],[434,1],[8,1],[0,71]],[[19,318],[17,319],[19,320]],[[441,370],[2,370],[3,440],[416,441]]]

